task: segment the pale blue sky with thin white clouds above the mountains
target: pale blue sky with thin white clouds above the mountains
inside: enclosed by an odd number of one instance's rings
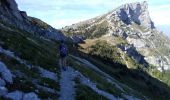
[[[19,9],[55,28],[96,17],[125,4],[143,0],[16,0]],[[170,36],[170,0],[146,0],[155,25]]]

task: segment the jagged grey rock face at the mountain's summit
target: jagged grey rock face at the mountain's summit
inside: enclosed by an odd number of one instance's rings
[[[116,10],[116,14],[126,24],[132,22],[142,25],[147,28],[154,28],[148,11],[148,4],[146,1],[143,3],[130,3],[121,6]]]

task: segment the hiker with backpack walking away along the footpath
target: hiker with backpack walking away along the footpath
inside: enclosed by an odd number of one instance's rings
[[[68,56],[68,48],[64,41],[62,40],[60,43],[60,67],[65,71],[66,70],[66,58]]]

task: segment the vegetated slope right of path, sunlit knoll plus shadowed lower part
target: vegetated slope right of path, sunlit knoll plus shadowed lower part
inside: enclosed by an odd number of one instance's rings
[[[156,78],[151,77],[149,73],[141,69],[128,69],[124,62],[122,62],[123,60],[119,58],[120,52],[112,49],[114,46],[112,48],[111,47],[112,46],[105,42],[102,44],[100,41],[98,44],[96,43],[91,46],[91,55],[80,52],[79,56],[88,59],[99,69],[116,78],[120,83],[126,84],[127,86],[142,93],[151,100],[164,100],[170,98],[170,88],[168,85],[157,80]],[[141,68],[141,66],[134,62],[134,60],[130,61],[132,61],[135,68]],[[168,81],[168,77],[166,81]],[[157,95],[157,97],[155,97],[155,95]]]

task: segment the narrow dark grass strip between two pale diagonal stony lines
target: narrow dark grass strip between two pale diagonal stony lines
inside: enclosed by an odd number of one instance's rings
[[[113,84],[107,82],[100,73],[88,68],[87,65],[76,63],[76,60],[72,58],[70,58],[70,61],[70,66],[73,66],[73,68],[81,72],[85,77],[88,77],[91,81],[96,83],[99,89],[111,93],[114,96],[121,97],[121,91]]]

